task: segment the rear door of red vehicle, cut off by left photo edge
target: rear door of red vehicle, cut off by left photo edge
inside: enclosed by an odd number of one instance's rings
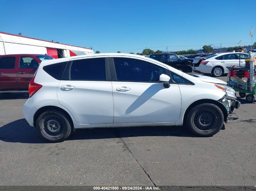
[[[0,90],[17,90],[15,56],[2,56],[0,58]]]

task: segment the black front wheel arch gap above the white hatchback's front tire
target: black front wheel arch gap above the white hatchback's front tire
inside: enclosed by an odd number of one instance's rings
[[[227,122],[227,118],[228,118],[228,111],[226,110],[225,106],[222,105],[220,102],[216,101],[216,100],[211,100],[211,99],[202,99],[202,100],[197,100],[194,103],[191,103],[191,105],[186,109],[184,117],[183,117],[183,124],[185,124],[187,116],[188,116],[188,112],[196,105],[201,104],[201,103],[212,103],[216,106],[218,106],[224,116],[224,122]]]

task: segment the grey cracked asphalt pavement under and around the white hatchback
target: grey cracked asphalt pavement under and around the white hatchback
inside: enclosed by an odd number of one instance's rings
[[[120,127],[48,143],[25,123],[27,98],[0,95],[0,186],[256,185],[256,101],[238,97],[241,117],[208,138],[182,126]]]

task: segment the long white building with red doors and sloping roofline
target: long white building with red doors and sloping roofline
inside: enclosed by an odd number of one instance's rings
[[[0,55],[47,54],[53,58],[94,54],[93,49],[0,32]]]

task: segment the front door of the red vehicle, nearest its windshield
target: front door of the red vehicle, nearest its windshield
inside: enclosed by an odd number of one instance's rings
[[[17,81],[18,88],[28,90],[28,85],[32,80],[38,67],[38,59],[34,56],[20,56],[18,59]]]

